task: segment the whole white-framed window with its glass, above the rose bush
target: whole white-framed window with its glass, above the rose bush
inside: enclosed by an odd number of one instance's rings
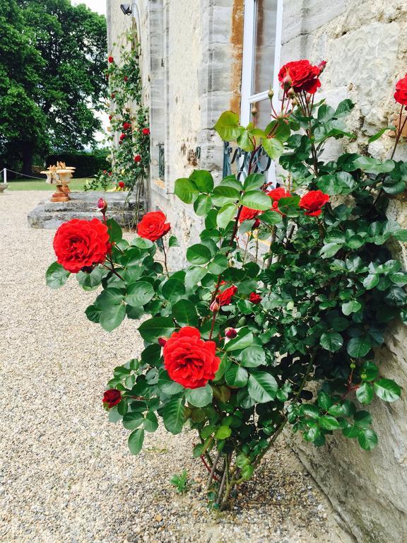
[[[278,69],[280,67],[283,0],[245,0],[242,67],[241,122],[252,120],[264,128],[270,122],[269,88],[278,101]]]

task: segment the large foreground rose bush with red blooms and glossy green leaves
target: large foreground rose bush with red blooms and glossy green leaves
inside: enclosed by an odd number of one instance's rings
[[[247,153],[247,175],[215,185],[195,170],[175,182],[177,197],[204,217],[184,269],[167,267],[177,239],[161,211],[143,216],[129,242],[102,200],[102,220],[70,221],[55,236],[49,286],[70,272],[85,290],[101,286],[86,315],[105,330],[145,318],[141,355],[114,369],[103,396],[110,420],[129,430],[134,454],[159,421],[173,434],[192,428],[193,455],[220,508],[285,426],[317,447],[341,433],[368,451],[378,439],[367,406],[401,395],[374,349],[391,322],[407,322],[407,274],[389,251],[389,242],[406,243],[407,230],[386,216],[389,198],[406,189],[407,163],[394,160],[403,124],[389,128],[388,160],[344,153],[325,161],[330,139],[355,136],[343,120],[350,100],[316,103],[323,69],[283,66],[283,97],[276,110],[270,93],[265,128],[221,115],[216,130]],[[400,119],[405,88],[397,83]],[[261,151],[279,160],[281,186],[258,173]]]

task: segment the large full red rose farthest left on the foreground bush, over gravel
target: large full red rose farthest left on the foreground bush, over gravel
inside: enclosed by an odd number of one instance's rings
[[[84,267],[102,264],[110,248],[107,226],[98,218],[91,221],[73,218],[61,224],[54,237],[57,262],[73,274]]]

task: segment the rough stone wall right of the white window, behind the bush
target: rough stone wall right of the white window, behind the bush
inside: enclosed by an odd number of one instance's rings
[[[367,137],[391,124],[399,112],[393,89],[407,71],[407,1],[290,0],[284,6],[282,62],[328,61],[322,76],[324,95],[333,104],[353,100],[350,128],[358,141],[348,149],[366,149]],[[393,145],[394,138],[382,136],[369,151],[387,158]],[[406,144],[401,144],[398,157],[406,159]],[[389,216],[407,227],[403,197],[392,200]],[[394,252],[407,268],[406,246],[395,246]],[[407,389],[405,326],[391,329],[377,351],[377,361],[384,376]],[[293,446],[358,542],[401,543],[407,540],[406,394],[394,404],[378,400],[371,411],[379,435],[372,452],[340,436],[324,448],[312,448],[300,438]]]

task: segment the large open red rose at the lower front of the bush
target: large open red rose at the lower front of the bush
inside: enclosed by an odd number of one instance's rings
[[[215,341],[204,341],[199,330],[191,326],[172,334],[163,356],[170,378],[185,388],[204,387],[215,378],[220,364]]]

